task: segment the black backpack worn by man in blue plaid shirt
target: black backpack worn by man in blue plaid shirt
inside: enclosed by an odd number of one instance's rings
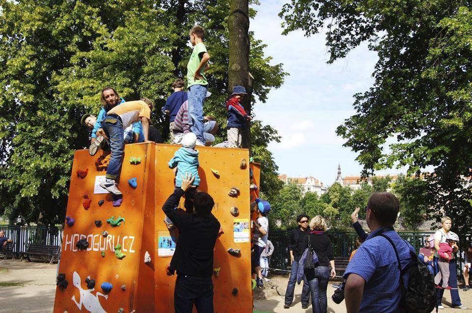
[[[410,264],[402,270],[400,257],[398,256],[397,248],[393,244],[392,240],[383,233],[380,235],[388,240],[397,256],[398,269],[400,270],[400,288],[402,291],[400,307],[407,313],[432,312],[438,301],[433,274],[429,272],[425,264],[418,262],[417,256],[411,250],[410,255],[412,259]],[[406,271],[409,271],[409,279],[408,287],[405,288],[405,284],[403,283],[403,274],[405,274]]]

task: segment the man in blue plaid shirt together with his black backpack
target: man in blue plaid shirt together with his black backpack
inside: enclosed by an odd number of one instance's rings
[[[433,276],[393,229],[399,209],[400,202],[390,193],[374,193],[367,202],[372,232],[344,273],[348,313],[422,313],[435,306]]]

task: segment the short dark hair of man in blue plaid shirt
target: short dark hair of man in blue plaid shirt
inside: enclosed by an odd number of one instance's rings
[[[392,226],[400,211],[400,201],[389,192],[376,192],[367,201],[367,208],[381,226]]]

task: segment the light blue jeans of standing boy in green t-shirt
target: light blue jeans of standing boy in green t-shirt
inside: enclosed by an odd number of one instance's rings
[[[192,85],[188,88],[188,124],[197,140],[205,144],[203,137],[203,102],[207,96],[206,85]]]

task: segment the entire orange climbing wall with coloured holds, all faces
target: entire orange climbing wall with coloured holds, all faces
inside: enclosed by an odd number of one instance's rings
[[[67,289],[58,288],[54,312],[89,312],[86,306],[99,305],[93,312],[118,312],[123,308],[125,313],[133,312],[173,312],[175,277],[165,275],[165,266],[171,256],[158,256],[159,235],[172,235],[163,222],[162,205],[174,190],[174,173],[167,166],[176,145],[138,143],[125,146],[125,156],[121,170],[120,190],[123,192],[123,203],[113,207],[111,196],[93,194],[96,175],[105,175],[97,171],[94,162],[98,156],[90,157],[87,150],[76,151],[71,175],[67,214],[76,221],[74,226],[64,228],[62,255],[59,273],[65,273],[69,282]],[[220,221],[224,234],[215,245],[214,267],[220,267],[219,276],[213,277],[215,312],[252,312],[250,242],[234,243],[234,219],[250,219],[249,214],[249,167],[254,171],[254,181],[259,186],[260,167],[249,165],[248,150],[198,147],[199,190],[208,192],[215,200],[213,214]],[[140,165],[130,165],[130,157],[141,157]],[[248,165],[241,170],[241,159]],[[88,175],[77,177],[78,169],[89,169]],[[216,178],[210,168],[220,172]],[[127,181],[138,178],[138,188],[132,189]],[[240,195],[237,198],[228,196],[231,187],[237,187]],[[86,193],[92,199],[91,207],[85,210],[82,206],[82,195]],[[257,192],[251,193],[254,198]],[[100,207],[97,202],[105,199]],[[233,217],[230,208],[237,206],[239,216]],[[181,201],[183,207],[183,199]],[[112,215],[124,217],[126,221],[119,227],[112,228],[106,219]],[[94,220],[101,220],[103,225],[97,228]],[[105,239],[101,232],[107,230],[110,235]],[[80,237],[88,239],[87,251],[75,251],[75,244]],[[119,238],[118,238],[119,236]],[[119,239],[119,240],[118,240]],[[125,258],[119,260],[114,253],[114,246],[123,246]],[[227,253],[230,248],[241,249],[241,256],[234,257]],[[102,258],[100,251],[105,250]],[[144,263],[145,252],[151,256],[151,263]],[[74,285],[73,273],[77,272],[80,284]],[[96,281],[94,290],[87,289],[85,279],[90,276]],[[113,285],[108,299],[97,293],[103,293],[100,285],[109,282]],[[121,285],[126,289],[121,290]],[[236,287],[238,293],[231,291]],[[82,291],[81,291],[82,289]],[[72,300],[80,303],[82,310]],[[100,311],[102,310],[103,311]]]

